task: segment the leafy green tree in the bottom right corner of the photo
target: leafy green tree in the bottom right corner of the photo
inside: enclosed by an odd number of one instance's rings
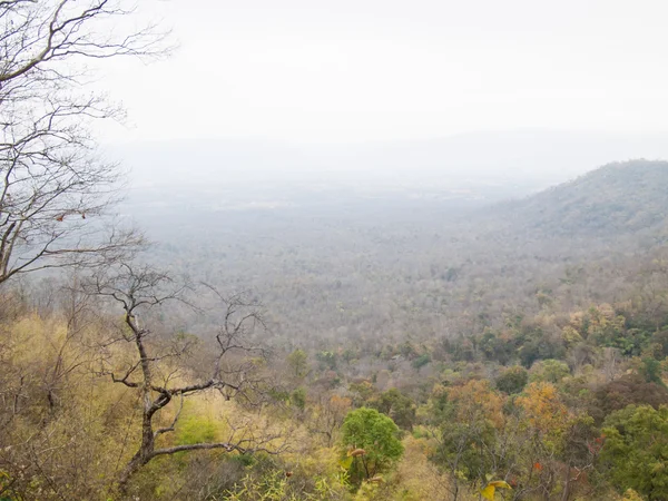
[[[602,432],[601,463],[612,484],[650,501],[668,499],[668,407],[629,405],[610,414]]]

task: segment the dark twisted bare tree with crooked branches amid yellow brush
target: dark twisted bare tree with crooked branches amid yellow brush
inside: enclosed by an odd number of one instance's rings
[[[190,377],[197,381],[183,384],[184,377],[178,376],[178,370],[171,366],[166,369],[166,361],[187,356],[193,348],[193,342],[185,340],[168,344],[166,350],[158,350],[156,344],[151,344],[150,330],[140,325],[139,312],[167,302],[184,302],[184,293],[188,287],[178,285],[168,275],[148,267],[121,264],[114,276],[97,276],[87,288],[90,293],[110,297],[122,306],[126,330],[121,337],[111,342],[130,343],[135,353],[134,360],[120,372],[115,371],[108,361],[104,362],[101,370],[101,373],[110,376],[115,383],[136,389],[141,395],[141,442],[120,475],[121,489],[125,489],[134,473],[159,455],[212,449],[239,453],[278,453],[285,449],[285,442],[276,442],[282,439],[279,433],[267,430],[258,432],[234,423],[228,423],[232,431],[224,442],[157,445],[160,435],[176,430],[184,399],[203,392],[218,391],[226,400],[244,397],[250,401],[252,395],[259,391],[263,381],[255,377],[254,373],[257,360],[263,357],[264,351],[248,344],[253,332],[264,328],[256,302],[247,299],[244,294],[224,297],[212,289],[224,305],[222,324],[215,335],[212,366],[205,377],[194,377],[190,374]],[[205,372],[202,369],[199,371],[202,374]],[[175,401],[169,422],[160,426],[160,411]],[[163,415],[163,423],[165,419]]]

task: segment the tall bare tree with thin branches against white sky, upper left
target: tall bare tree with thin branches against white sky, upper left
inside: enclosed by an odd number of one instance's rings
[[[98,155],[90,125],[121,110],[86,91],[82,66],[169,50],[155,26],[121,22],[132,13],[125,3],[0,1],[0,284],[46,267],[101,265],[141,243],[102,217],[121,173]]]

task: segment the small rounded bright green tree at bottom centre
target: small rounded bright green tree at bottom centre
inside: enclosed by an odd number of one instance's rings
[[[360,407],[348,412],[342,432],[344,461],[350,461],[351,482],[355,485],[387,471],[403,454],[399,428],[375,409]]]

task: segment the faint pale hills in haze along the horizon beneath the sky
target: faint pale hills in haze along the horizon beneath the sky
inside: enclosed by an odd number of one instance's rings
[[[468,132],[424,140],[281,144],[261,138],[107,145],[131,170],[130,188],[335,189],[400,194],[469,190],[488,203],[563,183],[597,165],[668,158],[668,135],[527,129]],[[220,195],[220,194],[219,194]],[[227,199],[223,194],[220,199]]]

